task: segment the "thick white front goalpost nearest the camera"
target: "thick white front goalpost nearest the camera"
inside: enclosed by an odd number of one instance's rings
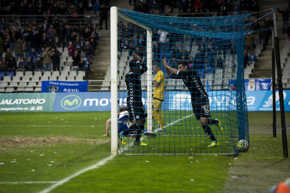
[[[111,154],[118,153],[118,8],[110,8],[111,30]]]

